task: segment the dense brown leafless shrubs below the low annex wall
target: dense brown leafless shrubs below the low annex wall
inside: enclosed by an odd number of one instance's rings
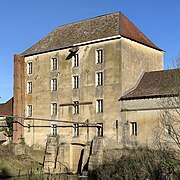
[[[147,148],[128,150],[114,162],[106,162],[91,172],[96,179],[166,180],[180,178],[180,160],[170,152]]]

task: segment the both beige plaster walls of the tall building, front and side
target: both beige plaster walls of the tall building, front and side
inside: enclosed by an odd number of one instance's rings
[[[96,50],[101,48],[104,52],[104,62],[96,64]],[[85,122],[88,119],[90,123],[103,123],[105,148],[115,147],[117,144],[121,146],[124,123],[122,117],[125,115],[120,113],[118,99],[135,85],[143,71],[162,69],[163,54],[125,38],[79,46],[79,67],[72,67],[72,58],[67,60],[69,53],[69,49],[62,49],[25,57],[25,115],[29,104],[33,105],[34,118],[52,120],[51,122],[26,120],[25,125],[41,127],[30,128],[30,131],[26,128],[25,142],[29,146],[43,148],[47,135],[51,133],[51,124],[72,125],[53,120]],[[55,71],[51,71],[53,57],[58,58],[58,69]],[[27,75],[28,62],[33,64],[32,75]],[[103,86],[96,86],[95,76],[99,71],[104,73]],[[79,89],[72,87],[73,75],[80,77]],[[51,91],[52,78],[58,80],[58,90],[55,92]],[[27,93],[27,83],[30,81],[33,83],[32,94]],[[103,99],[103,113],[96,113],[97,99]],[[79,114],[73,114],[73,101],[80,102]],[[57,116],[51,116],[51,103],[58,104]],[[89,144],[97,136],[97,128],[80,127],[79,136],[73,137],[72,127],[58,127],[58,134],[62,159],[72,171],[75,171],[81,146]],[[72,144],[81,145],[76,147]]]

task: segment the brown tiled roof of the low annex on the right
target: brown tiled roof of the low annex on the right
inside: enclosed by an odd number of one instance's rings
[[[137,87],[120,100],[174,96],[179,91],[180,69],[145,72]]]

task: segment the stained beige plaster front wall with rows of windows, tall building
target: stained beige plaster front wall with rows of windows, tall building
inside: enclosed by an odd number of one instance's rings
[[[104,62],[96,64],[96,50],[103,49]],[[67,121],[85,122],[87,119],[90,123],[103,123],[104,137],[109,141],[114,138],[113,123],[119,117],[119,102],[121,89],[121,57],[120,57],[120,40],[90,44],[79,47],[80,66],[72,67],[72,59],[66,60],[69,55],[69,49],[39,54],[25,58],[25,111],[27,115],[28,104],[33,105],[33,117],[60,119]],[[58,58],[58,70],[51,71],[51,58]],[[32,75],[27,75],[27,63],[33,63]],[[96,87],[95,75],[97,71],[104,73],[104,85]],[[79,89],[73,89],[73,75],[80,76]],[[58,90],[51,91],[51,79],[58,79]],[[32,94],[27,94],[27,82],[32,81]],[[96,113],[96,100],[102,98],[104,113]],[[80,105],[79,114],[73,114],[73,101],[84,103]],[[51,116],[51,103],[58,104],[58,115]],[[44,121],[26,121],[25,124],[35,127],[25,129],[25,142],[29,146],[36,148],[45,147],[47,135],[51,133],[50,124],[52,122]],[[54,122],[55,123],[55,122]],[[56,123],[58,126],[72,124]],[[63,154],[62,160],[69,164],[72,171],[75,171],[79,161],[81,146],[68,145],[87,144],[96,135],[97,128],[80,127],[79,137],[73,137],[72,127],[58,127],[60,135],[60,154]],[[114,138],[115,140],[115,138]]]

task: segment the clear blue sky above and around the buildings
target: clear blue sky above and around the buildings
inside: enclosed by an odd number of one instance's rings
[[[180,54],[180,0],[0,0],[0,103],[13,96],[13,56],[53,29],[121,11],[165,51],[165,68]]]

